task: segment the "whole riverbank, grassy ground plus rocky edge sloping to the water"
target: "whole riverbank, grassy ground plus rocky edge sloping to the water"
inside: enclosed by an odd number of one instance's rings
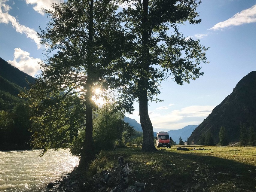
[[[101,151],[87,171],[75,168],[49,191],[255,191],[256,148],[176,147],[154,153],[138,148]],[[207,150],[191,150],[202,147]]]

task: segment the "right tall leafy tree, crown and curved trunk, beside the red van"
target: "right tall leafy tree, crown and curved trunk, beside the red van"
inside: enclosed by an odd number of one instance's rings
[[[123,93],[119,99],[125,99],[126,106],[139,102],[142,151],[156,151],[148,101],[160,101],[154,97],[160,93],[160,82],[171,77],[182,85],[203,75],[198,65],[207,62],[208,48],[178,30],[186,21],[200,23],[196,19],[199,4],[196,0],[140,0],[121,13],[124,28],[131,35],[131,47],[119,61],[121,70],[117,76]]]

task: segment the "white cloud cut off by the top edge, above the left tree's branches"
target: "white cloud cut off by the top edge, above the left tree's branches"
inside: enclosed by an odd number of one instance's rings
[[[44,11],[42,9],[52,9],[52,3],[59,3],[60,0],[26,0],[26,4],[34,5],[33,9],[44,15]]]

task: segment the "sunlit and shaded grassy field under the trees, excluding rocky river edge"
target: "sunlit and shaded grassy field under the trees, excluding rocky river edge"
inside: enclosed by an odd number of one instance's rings
[[[181,146],[203,151],[178,151],[178,146],[142,153],[139,148],[101,151],[90,174],[117,166],[123,156],[132,172],[129,185],[147,183],[145,191],[256,191],[256,148]]]

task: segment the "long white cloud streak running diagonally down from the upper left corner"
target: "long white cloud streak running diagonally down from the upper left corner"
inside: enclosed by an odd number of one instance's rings
[[[30,29],[24,25],[20,25],[20,23],[16,20],[15,17],[8,14],[8,11],[11,9],[9,5],[6,5],[5,2],[7,0],[0,0],[0,23],[11,23],[14,29],[21,34],[26,34],[26,36],[37,44],[37,48],[40,49],[42,45],[40,44],[40,40],[37,37],[37,33],[34,29]]]

